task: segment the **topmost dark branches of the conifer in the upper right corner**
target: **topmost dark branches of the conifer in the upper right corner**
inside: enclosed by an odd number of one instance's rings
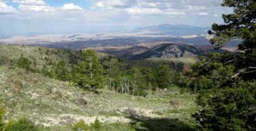
[[[223,46],[234,37],[239,37],[243,42],[238,46],[239,49],[255,48],[256,42],[256,26],[255,14],[256,4],[253,0],[230,1],[224,0],[223,6],[228,6],[234,9],[234,14],[224,14],[223,19],[225,24],[212,25],[213,37],[211,42],[217,44],[217,47]]]

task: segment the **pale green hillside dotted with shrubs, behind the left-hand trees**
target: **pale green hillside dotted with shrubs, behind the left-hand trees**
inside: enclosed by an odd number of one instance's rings
[[[79,50],[0,45],[0,65],[12,64],[12,62],[20,58],[21,55],[31,60],[32,67],[39,70],[44,66],[53,65],[61,60],[72,65],[82,59]]]

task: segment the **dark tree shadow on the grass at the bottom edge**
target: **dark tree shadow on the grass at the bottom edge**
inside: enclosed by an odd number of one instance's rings
[[[172,118],[150,118],[129,114],[135,122],[131,123],[137,131],[195,131],[194,127]]]

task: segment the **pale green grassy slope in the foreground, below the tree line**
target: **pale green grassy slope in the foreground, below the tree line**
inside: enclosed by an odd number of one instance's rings
[[[7,117],[27,117],[42,130],[71,130],[79,120],[96,118],[102,130],[192,129],[191,114],[198,110],[193,94],[179,88],[159,90],[147,97],[101,89],[99,94],[72,83],[42,77],[29,71],[0,66],[0,96]]]

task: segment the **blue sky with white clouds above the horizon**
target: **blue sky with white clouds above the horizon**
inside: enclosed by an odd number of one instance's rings
[[[0,36],[131,31],[222,23],[222,0],[0,0]]]

